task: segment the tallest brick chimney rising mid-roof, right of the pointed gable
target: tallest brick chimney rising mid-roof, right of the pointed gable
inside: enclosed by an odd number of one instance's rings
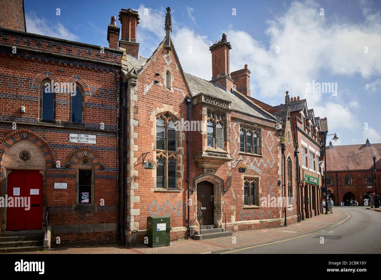
[[[209,48],[212,53],[212,79],[211,82],[219,83],[230,91],[233,80],[230,77],[230,49],[232,46],[227,42],[226,34],[222,34],[221,41],[217,41]]]

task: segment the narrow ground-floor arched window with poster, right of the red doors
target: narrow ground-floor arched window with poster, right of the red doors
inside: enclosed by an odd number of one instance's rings
[[[76,208],[93,210],[94,205],[94,164],[90,158],[82,157],[76,166]]]

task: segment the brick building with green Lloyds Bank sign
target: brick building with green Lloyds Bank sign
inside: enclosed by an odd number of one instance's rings
[[[314,109],[307,108],[306,99],[299,97],[289,98],[286,94],[285,104],[275,106],[280,112],[282,119],[286,117],[290,120],[290,127],[286,129],[288,142],[295,139],[295,161],[298,190],[298,201],[300,208],[298,213],[301,220],[312,218],[322,213],[322,166],[320,157],[322,123],[319,117],[315,117]],[[327,119],[324,119],[325,129],[327,129]],[[295,155],[296,154],[296,155]],[[292,153],[289,154],[291,159]],[[295,164],[294,164],[295,165]]]

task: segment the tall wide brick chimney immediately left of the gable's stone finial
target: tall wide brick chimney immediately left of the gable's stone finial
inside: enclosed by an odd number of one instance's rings
[[[138,11],[122,9],[119,12],[119,20],[122,25],[119,47],[126,49],[126,53],[132,56],[137,56],[139,53],[139,43],[136,42],[136,27],[139,19]]]

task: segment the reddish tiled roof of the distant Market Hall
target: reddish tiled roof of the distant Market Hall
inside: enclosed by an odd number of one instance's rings
[[[376,152],[376,168],[381,168],[381,144],[364,144],[326,147],[327,171],[370,170],[373,166],[373,152]]]

